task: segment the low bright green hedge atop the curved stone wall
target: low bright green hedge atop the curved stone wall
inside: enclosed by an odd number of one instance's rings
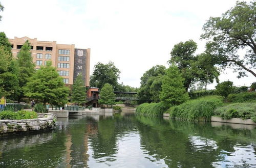
[[[37,114],[35,111],[19,110],[18,112],[3,111],[0,113],[1,120],[23,120],[23,119],[36,119]]]

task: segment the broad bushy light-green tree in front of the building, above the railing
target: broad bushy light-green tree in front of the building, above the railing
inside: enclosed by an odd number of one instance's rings
[[[24,87],[25,96],[40,99],[44,104],[64,105],[68,101],[69,88],[51,65],[50,61],[47,62],[29,78]]]

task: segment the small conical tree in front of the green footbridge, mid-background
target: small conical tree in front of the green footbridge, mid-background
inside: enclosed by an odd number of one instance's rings
[[[105,83],[100,91],[100,104],[113,105],[115,103],[116,95],[114,94],[114,89],[110,83]]]

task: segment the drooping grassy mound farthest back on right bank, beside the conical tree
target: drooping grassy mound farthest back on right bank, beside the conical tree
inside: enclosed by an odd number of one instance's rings
[[[146,114],[153,116],[163,116],[163,113],[168,109],[163,103],[143,103],[136,108],[137,114]]]

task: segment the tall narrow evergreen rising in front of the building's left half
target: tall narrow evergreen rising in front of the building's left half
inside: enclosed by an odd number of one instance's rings
[[[24,87],[26,86],[29,77],[31,77],[35,73],[35,64],[33,63],[33,58],[30,52],[31,46],[29,41],[27,40],[22,48],[20,49],[17,55],[18,67],[19,67],[19,87],[20,91],[18,94],[18,102],[21,98],[24,97]]]

